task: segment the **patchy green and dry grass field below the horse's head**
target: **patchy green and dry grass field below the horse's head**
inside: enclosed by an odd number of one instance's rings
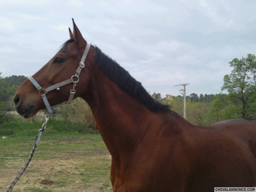
[[[0,191],[9,188],[25,165],[41,124],[1,125]],[[50,120],[30,165],[12,191],[112,191],[110,164],[111,156],[97,132],[88,134],[79,125]]]

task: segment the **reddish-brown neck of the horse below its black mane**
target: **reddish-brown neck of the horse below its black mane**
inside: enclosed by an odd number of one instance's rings
[[[97,67],[94,67],[89,104],[101,136],[113,158],[128,155],[146,135],[156,113],[131,98]],[[97,83],[97,84],[96,84]]]

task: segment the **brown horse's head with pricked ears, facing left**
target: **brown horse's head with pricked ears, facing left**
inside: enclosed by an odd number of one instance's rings
[[[88,60],[90,59],[87,59],[82,66],[83,69],[80,69],[80,76],[78,75],[78,77],[76,69],[80,65],[80,60],[87,46],[87,42],[82,37],[74,19],[73,25],[73,33],[69,28],[70,39],[63,44],[59,52],[44,67],[23,82],[16,91],[14,95],[15,107],[17,112],[24,118],[32,117],[39,110],[46,108],[44,99],[41,97],[44,94],[50,106],[67,101],[71,95],[71,90],[75,92],[73,95],[74,98],[84,94],[84,90],[86,90],[90,81],[88,70],[90,68]],[[67,84],[60,85],[60,82],[65,80],[69,80],[66,82]],[[57,87],[54,87],[56,84]],[[38,86],[42,89],[38,89]],[[52,90],[49,91],[48,88]]]

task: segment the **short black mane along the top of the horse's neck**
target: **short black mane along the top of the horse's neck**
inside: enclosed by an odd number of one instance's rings
[[[134,79],[128,71],[121,67],[115,60],[111,59],[106,54],[95,46],[96,57],[94,65],[115,82],[121,90],[127,93],[130,97],[136,99],[147,109],[152,112],[170,112],[169,105],[163,105],[155,100],[142,86],[140,82]]]

